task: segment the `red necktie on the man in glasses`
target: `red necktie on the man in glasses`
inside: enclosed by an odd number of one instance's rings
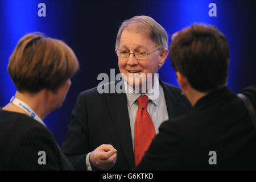
[[[148,149],[152,139],[155,137],[154,123],[147,111],[148,97],[141,96],[137,101],[139,110],[137,111],[134,131],[135,166],[139,164],[144,152]]]

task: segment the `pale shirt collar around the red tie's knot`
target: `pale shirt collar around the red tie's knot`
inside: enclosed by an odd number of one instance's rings
[[[130,86],[129,84],[127,84],[127,82],[124,80],[125,82],[125,90],[126,90],[126,97],[127,97],[127,102],[129,104],[129,106],[132,106],[134,104],[135,101],[137,101],[137,99],[140,97],[140,96],[148,96],[148,100],[151,100],[156,106],[158,105],[158,102],[159,102],[159,95],[157,98],[152,98],[152,94],[151,91],[154,90],[154,88],[158,88],[159,89],[159,93],[160,93],[160,86],[159,86],[159,80],[158,80],[158,77],[155,76],[154,77],[154,86],[148,90],[148,92],[146,94],[142,94],[142,93],[138,93],[136,92],[132,86]],[[127,91],[129,90],[132,90],[133,92],[129,93]]]

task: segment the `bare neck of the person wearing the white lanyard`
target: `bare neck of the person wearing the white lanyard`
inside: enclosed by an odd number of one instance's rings
[[[20,93],[17,91],[15,94],[15,98],[18,98],[20,101],[23,101],[28,106],[30,106],[31,109],[34,110],[38,117],[42,120],[46,118],[46,116],[50,113],[50,111],[47,110],[47,97],[44,90],[35,94],[31,94],[28,92]],[[16,113],[22,113],[30,116],[26,111],[11,102],[3,107],[3,110],[14,111]]]

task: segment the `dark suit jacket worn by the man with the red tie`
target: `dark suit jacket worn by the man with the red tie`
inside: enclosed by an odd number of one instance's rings
[[[179,88],[162,81],[159,83],[163,86],[170,119],[191,109]],[[76,169],[86,169],[86,155],[101,144],[112,144],[117,149],[117,162],[112,170],[134,167],[126,94],[99,94],[97,88],[93,88],[80,93],[77,98],[62,150]]]

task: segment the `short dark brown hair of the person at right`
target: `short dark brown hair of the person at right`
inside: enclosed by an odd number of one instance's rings
[[[226,85],[229,45],[214,26],[193,24],[177,32],[170,45],[171,64],[192,88],[211,92]]]

